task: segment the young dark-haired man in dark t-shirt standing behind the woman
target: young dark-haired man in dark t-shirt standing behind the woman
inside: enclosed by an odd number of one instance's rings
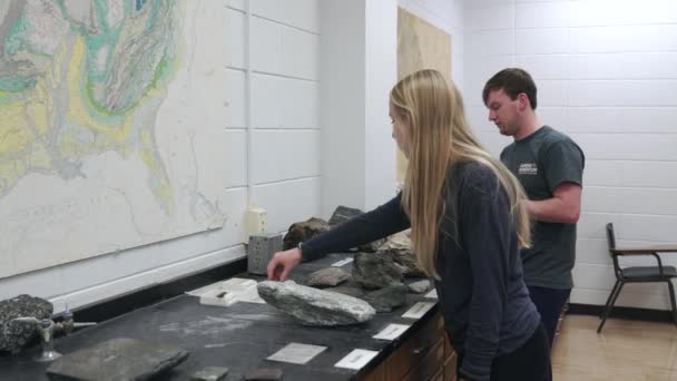
[[[585,155],[568,136],[539,120],[536,92],[527,71],[504,69],[487,81],[482,98],[489,120],[514,138],[501,153],[501,162],[529,197],[533,243],[521,252],[524,282],[552,344],[573,286]]]

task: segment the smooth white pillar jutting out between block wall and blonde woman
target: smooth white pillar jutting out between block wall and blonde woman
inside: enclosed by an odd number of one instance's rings
[[[322,214],[395,195],[389,94],[396,80],[395,0],[321,2]]]

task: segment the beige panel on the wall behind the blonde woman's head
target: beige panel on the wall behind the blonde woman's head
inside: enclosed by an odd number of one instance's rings
[[[435,69],[451,79],[451,36],[423,19],[398,9],[398,79],[421,69]],[[398,182],[404,180],[406,158],[398,150]]]

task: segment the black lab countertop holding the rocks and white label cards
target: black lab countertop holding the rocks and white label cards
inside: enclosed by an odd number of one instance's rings
[[[301,283],[311,272],[350,256],[351,254],[331,254],[302,264],[293,272],[292,279]],[[351,264],[342,268],[350,273]],[[263,276],[248,274],[237,276],[264,280]],[[207,367],[228,368],[225,380],[242,380],[247,371],[255,368],[279,368],[284,372],[282,380],[355,380],[369,374],[436,312],[435,305],[419,320],[401,316],[420,301],[436,302],[423,295],[409,294],[406,305],[390,313],[379,313],[366,323],[313,328],[298,324],[267,304],[239,302],[228,307],[209,306],[199,304],[196,296],[179,295],[69,336],[57,338],[55,346],[57,351],[67,354],[110,339],[131,338],[176,345],[190,352],[185,362],[156,377],[158,380],[189,380],[193,373]],[[411,328],[395,341],[372,338],[390,323],[408,324]],[[266,360],[292,342],[322,345],[326,350],[304,365]],[[377,351],[379,354],[359,371],[334,367],[354,349]],[[40,348],[32,348],[19,355],[0,358],[0,380],[48,380],[45,371],[49,363],[32,360],[39,351]]]

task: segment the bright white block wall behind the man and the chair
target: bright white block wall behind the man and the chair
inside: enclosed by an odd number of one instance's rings
[[[571,301],[604,304],[615,282],[606,223],[618,246],[677,242],[677,1],[468,0],[464,26],[465,99],[488,147],[510,140],[487,120],[482,87],[517,66],[537,81],[543,123],[585,150]],[[668,309],[667,287],[627,285],[617,305]]]

